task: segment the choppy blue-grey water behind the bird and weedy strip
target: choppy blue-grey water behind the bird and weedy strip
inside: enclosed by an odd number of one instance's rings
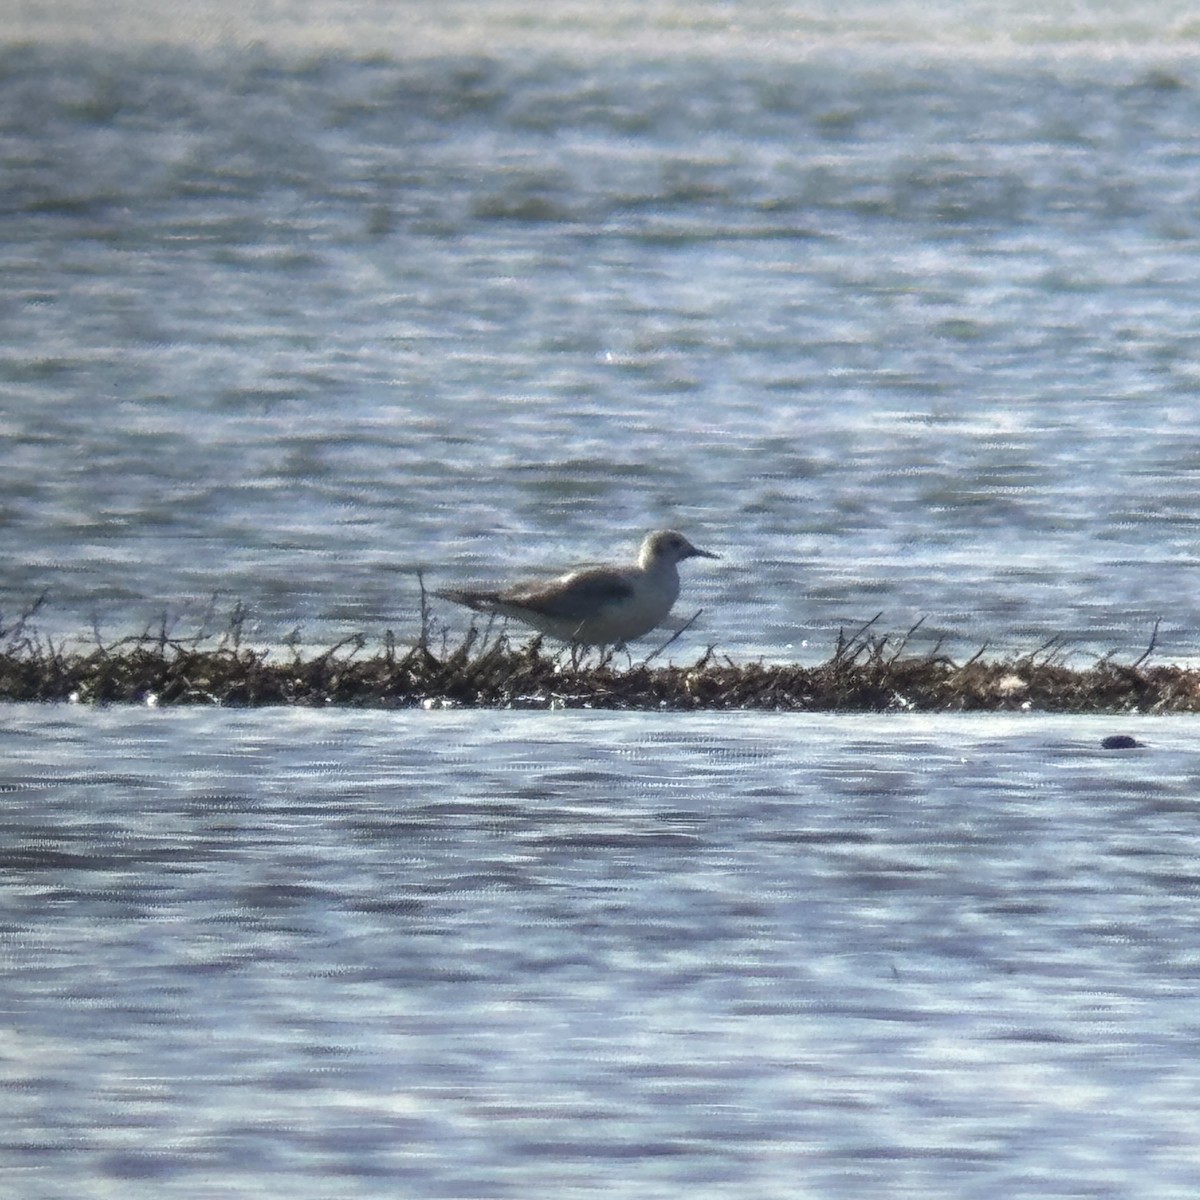
[[[148,44],[130,4],[79,47],[25,13],[0,614],[49,589],[53,634],[192,632],[215,594],[260,641],[410,636],[419,568],[678,526],[725,554],[683,655],[815,660],[877,612],[1130,658],[1162,618],[1192,655],[1182,11],[736,7],[653,6],[619,53],[619,6],[415,5],[410,44],[371,6],[378,41],[238,6]]]

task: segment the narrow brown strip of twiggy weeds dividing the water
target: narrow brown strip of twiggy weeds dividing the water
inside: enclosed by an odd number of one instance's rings
[[[245,644],[246,611],[236,605],[220,635],[157,630],[92,646],[41,636],[32,618],[44,596],[11,623],[0,620],[0,701],[156,706],[268,704],[366,708],[607,708],[782,712],[1190,713],[1200,710],[1200,671],[1147,666],[1111,656],[1090,667],[1063,661],[1057,640],[988,661],[980,649],[956,662],[941,643],[908,653],[919,623],[899,637],[875,620],[840,634],[816,666],[736,664],[713,647],[689,666],[624,655],[546,649],[540,637],[514,642],[491,625],[457,642],[434,638],[422,605],[421,634],[401,647],[388,632],[373,653],[361,634],[317,654],[296,640],[280,650]],[[877,620],[878,618],[876,618]],[[437,641],[437,646],[434,642]],[[661,648],[660,648],[661,649]]]

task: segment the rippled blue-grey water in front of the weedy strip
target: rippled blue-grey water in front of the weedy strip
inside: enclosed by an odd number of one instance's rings
[[[1187,721],[2,730],[28,1200],[1200,1184]]]

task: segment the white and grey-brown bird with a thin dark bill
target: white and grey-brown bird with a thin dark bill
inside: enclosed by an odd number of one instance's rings
[[[630,566],[584,566],[548,583],[502,592],[444,588],[434,593],[475,612],[511,617],[572,646],[624,646],[662,624],[679,596],[678,564],[720,558],[674,529],[647,534]]]

